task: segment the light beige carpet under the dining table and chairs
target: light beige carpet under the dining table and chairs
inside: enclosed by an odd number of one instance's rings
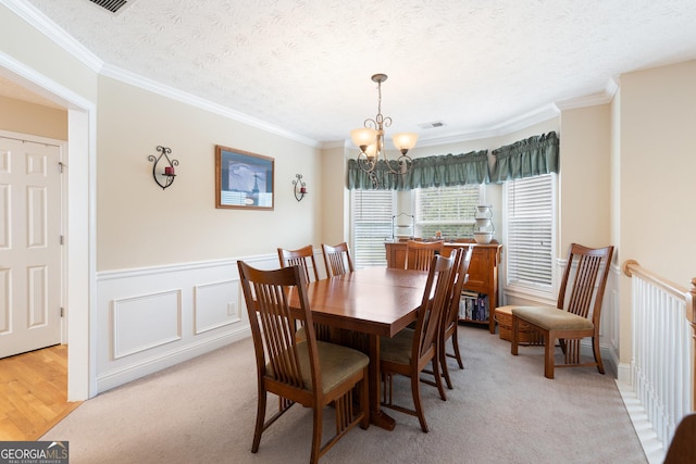
[[[465,368],[453,390],[422,386],[431,431],[388,411],[397,426],[356,428],[323,463],[646,463],[613,375],[594,367],[543,375],[543,349],[461,326]],[[410,403],[408,383],[399,383]],[[273,411],[277,404],[270,401]],[[271,409],[271,407],[270,407]],[[333,416],[327,410],[327,429]],[[86,401],[42,440],[70,441],[71,463],[303,463],[311,412],[295,405],[249,450],[256,416],[251,339]]]

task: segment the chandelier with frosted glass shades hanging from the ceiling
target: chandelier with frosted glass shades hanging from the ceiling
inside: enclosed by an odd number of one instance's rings
[[[382,115],[382,83],[386,79],[386,74],[375,74],[372,76],[372,81],[377,83],[377,115],[374,120],[365,120],[363,124],[364,127],[350,131],[352,142],[360,147],[360,153],[358,153],[357,159],[358,166],[370,174],[372,181],[375,184],[376,175],[374,171],[380,159],[384,160],[384,164],[391,174],[406,174],[409,172],[411,168],[411,158],[406,153],[415,147],[415,140],[418,139],[418,134],[413,133],[394,135],[391,138],[394,146],[401,152],[401,155],[396,159],[398,168],[395,168],[387,159],[387,152],[384,147],[384,128],[391,125],[391,117],[384,117]]]

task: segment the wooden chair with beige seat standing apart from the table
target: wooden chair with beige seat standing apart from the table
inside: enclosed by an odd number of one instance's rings
[[[511,353],[518,354],[520,326],[544,337],[544,376],[554,378],[554,367],[597,366],[605,373],[599,350],[599,321],[613,247],[592,249],[572,243],[558,292],[556,306],[514,306],[512,313]],[[574,277],[571,279],[571,274]],[[568,296],[568,301],[567,301]],[[580,342],[592,337],[594,362],[581,362]],[[556,364],[556,340],[564,354],[564,363]]]

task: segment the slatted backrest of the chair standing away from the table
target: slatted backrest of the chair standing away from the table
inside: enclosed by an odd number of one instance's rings
[[[601,301],[612,254],[612,246],[593,249],[572,243],[556,308],[566,309],[582,317],[587,317],[592,309],[593,324],[599,327]],[[570,294],[567,296],[569,291]]]

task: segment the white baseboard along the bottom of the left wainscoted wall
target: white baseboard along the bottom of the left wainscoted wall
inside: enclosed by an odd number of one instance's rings
[[[234,330],[225,331],[217,337],[210,337],[197,343],[188,343],[163,355],[153,356],[123,369],[98,376],[97,394],[248,337],[251,337],[251,329],[247,324],[235,327]]]

